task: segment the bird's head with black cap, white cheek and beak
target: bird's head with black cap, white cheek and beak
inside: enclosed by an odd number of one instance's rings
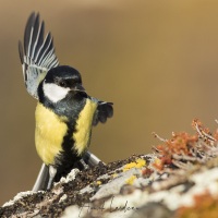
[[[58,102],[65,97],[87,96],[82,86],[80,72],[68,65],[60,65],[48,71],[43,81],[43,92],[51,102]]]

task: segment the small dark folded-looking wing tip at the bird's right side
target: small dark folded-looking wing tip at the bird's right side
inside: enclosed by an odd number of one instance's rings
[[[105,123],[108,118],[112,118],[113,116],[112,102],[98,100],[97,104],[98,104],[98,107],[93,119],[93,125],[97,125],[98,122]]]

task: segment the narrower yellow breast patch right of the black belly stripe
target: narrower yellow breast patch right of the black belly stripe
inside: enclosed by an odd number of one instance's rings
[[[77,152],[77,155],[81,155],[89,144],[93,117],[96,108],[97,104],[87,99],[76,121],[76,131],[73,133],[73,140],[75,142],[74,149]]]

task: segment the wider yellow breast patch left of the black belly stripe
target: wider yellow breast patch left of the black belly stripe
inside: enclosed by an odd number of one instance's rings
[[[35,118],[36,150],[46,165],[55,164],[55,157],[62,150],[61,144],[68,130],[63,122],[66,118],[59,118],[39,102],[36,107]]]

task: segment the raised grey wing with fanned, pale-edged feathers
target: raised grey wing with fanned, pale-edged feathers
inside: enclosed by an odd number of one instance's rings
[[[24,32],[24,44],[19,41],[24,82],[27,92],[38,99],[37,88],[46,73],[59,65],[50,33],[44,38],[45,24],[39,14],[32,13]]]

